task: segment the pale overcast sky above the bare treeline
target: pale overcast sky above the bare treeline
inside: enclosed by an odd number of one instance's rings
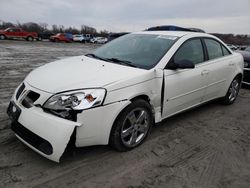
[[[0,20],[115,32],[178,25],[250,34],[250,0],[0,0]]]

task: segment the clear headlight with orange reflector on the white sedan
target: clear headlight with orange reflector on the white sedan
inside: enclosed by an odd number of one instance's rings
[[[43,107],[50,110],[84,110],[102,105],[105,89],[84,89],[52,96]]]

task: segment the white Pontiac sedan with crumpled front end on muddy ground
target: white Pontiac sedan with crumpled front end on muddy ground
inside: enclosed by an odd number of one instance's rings
[[[232,104],[242,76],[242,56],[212,35],[144,31],[33,70],[7,112],[22,142],[59,162],[69,143],[127,151],[167,117]]]

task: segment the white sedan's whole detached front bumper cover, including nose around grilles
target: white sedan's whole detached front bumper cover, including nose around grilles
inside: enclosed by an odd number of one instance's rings
[[[19,92],[20,90],[22,91]],[[81,124],[46,113],[39,106],[27,106],[24,99],[30,91],[40,93],[40,100],[48,98],[49,95],[32,88],[27,83],[25,87],[24,84],[20,85],[7,110],[12,119],[11,128],[27,146],[42,156],[59,162],[74,129]]]

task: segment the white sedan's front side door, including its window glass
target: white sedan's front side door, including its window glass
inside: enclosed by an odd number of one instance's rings
[[[171,61],[189,60],[195,64],[194,69],[164,70],[164,100],[162,117],[198,105],[207,86],[203,67],[204,48],[200,38],[189,39],[177,50]]]

